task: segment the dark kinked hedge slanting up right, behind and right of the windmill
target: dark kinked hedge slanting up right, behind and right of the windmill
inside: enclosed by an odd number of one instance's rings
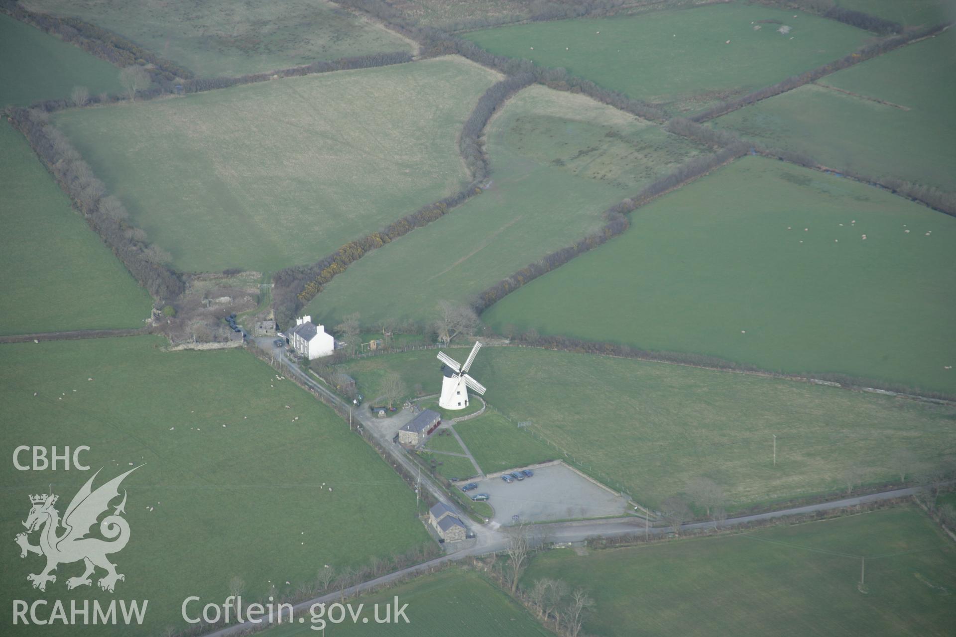
[[[637,207],[668,190],[684,184],[686,181],[695,180],[717,166],[747,154],[748,150],[747,144],[735,143],[713,155],[687,161],[675,171],[644,187],[637,197],[625,199],[605,210],[603,213],[604,225],[597,232],[577,240],[574,244],[555,250],[538,261],[525,265],[511,276],[485,288],[472,301],[471,305],[479,314],[484,312],[519,287],[531,283],[542,274],[550,272],[555,267],[564,265],[576,256],[594,249],[598,245],[605,244],[612,237],[618,236],[630,225],[627,217],[625,217],[627,213],[634,211]]]

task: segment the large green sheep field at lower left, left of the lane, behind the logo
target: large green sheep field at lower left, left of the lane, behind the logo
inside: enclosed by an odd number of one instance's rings
[[[98,597],[96,584],[67,591],[81,564],[61,565],[45,593],[31,588],[26,576],[40,559],[21,561],[12,539],[30,494],[52,488],[62,515],[100,467],[97,485],[145,463],[123,482],[131,540],[112,556],[126,576],[117,597],[149,600],[144,634],[182,626],[187,595],[221,602],[234,576],[245,580],[250,601],[265,598],[271,583],[288,595],[324,564],[360,566],[429,541],[412,490],[312,395],[276,380],[245,351],[162,346],[154,337],[0,346],[8,458],[0,527],[10,539],[3,571],[11,574],[0,585],[3,599]],[[20,444],[88,445],[82,459],[93,471],[16,471],[10,458]],[[10,612],[7,605],[8,626]]]

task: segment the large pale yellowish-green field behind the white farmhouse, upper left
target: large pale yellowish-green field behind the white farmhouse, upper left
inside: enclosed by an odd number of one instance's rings
[[[467,179],[457,136],[496,77],[444,57],[55,123],[174,265],[274,272],[456,191]]]

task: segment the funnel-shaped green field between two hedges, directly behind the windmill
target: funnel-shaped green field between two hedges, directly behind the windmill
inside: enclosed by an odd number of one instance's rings
[[[487,137],[487,190],[349,265],[308,311],[331,325],[353,311],[369,325],[430,321],[438,301],[465,302],[574,243],[600,227],[606,208],[699,152],[637,117],[542,86],[514,96]]]

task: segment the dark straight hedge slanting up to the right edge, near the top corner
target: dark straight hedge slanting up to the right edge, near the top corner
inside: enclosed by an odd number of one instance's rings
[[[801,87],[804,84],[814,82],[820,77],[849,68],[872,57],[881,55],[882,53],[888,53],[894,49],[902,47],[903,45],[909,44],[924,37],[928,37],[930,35],[934,35],[938,32],[942,32],[946,28],[947,25],[934,25],[923,27],[921,29],[914,29],[901,35],[883,38],[879,42],[874,42],[873,44],[867,44],[863,47],[860,47],[855,53],[848,53],[839,59],[836,59],[832,62],[827,62],[826,64],[816,67],[815,69],[811,69],[810,71],[806,71],[799,75],[791,75],[790,77],[787,77],[776,84],[758,89],[757,91],[753,91],[746,96],[740,96],[735,99],[728,100],[722,104],[718,104],[717,106],[707,109],[703,113],[699,113],[694,117],[691,117],[691,119],[696,122],[702,122],[713,119],[714,117],[727,115],[731,111],[736,111],[739,108],[749,106],[750,104],[758,102],[762,99],[767,99],[768,97],[778,96],[781,93],[793,91],[793,89]]]

